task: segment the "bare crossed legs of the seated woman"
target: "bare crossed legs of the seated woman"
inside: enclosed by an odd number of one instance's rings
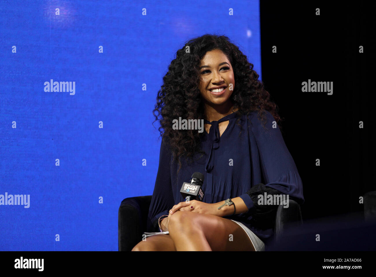
[[[168,231],[147,237],[132,251],[255,251],[243,228],[212,214],[176,211],[170,216]]]

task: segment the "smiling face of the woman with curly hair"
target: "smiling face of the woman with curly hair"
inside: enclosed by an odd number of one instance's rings
[[[230,104],[235,78],[231,63],[221,50],[206,52],[200,64],[200,77],[200,93],[207,105]]]

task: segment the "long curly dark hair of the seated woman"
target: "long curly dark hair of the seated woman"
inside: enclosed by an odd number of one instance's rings
[[[276,119],[279,128],[282,128],[279,124],[281,118],[277,112],[278,107],[270,101],[270,94],[264,89],[262,81],[258,80],[259,75],[252,70],[253,64],[248,62],[247,56],[231,43],[228,37],[205,34],[191,39],[176,52],[176,59],[168,66],[153,110],[155,121],[161,116],[161,127],[158,130],[162,139],[170,145],[174,160],[179,162],[178,171],[181,168],[181,157],[191,158],[195,153],[203,153],[201,139],[204,133],[197,130],[173,130],[172,122],[179,116],[185,119],[205,118],[199,89],[200,60],[206,52],[214,49],[220,49],[233,68],[236,86],[229,98],[234,104],[232,111],[236,110],[238,115],[258,111],[258,117],[265,125],[264,110],[267,110]],[[238,125],[239,120],[240,116],[237,119]]]

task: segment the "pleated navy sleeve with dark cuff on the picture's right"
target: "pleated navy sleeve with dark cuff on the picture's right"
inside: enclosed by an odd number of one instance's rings
[[[265,129],[254,112],[248,117],[250,149],[253,161],[252,173],[262,176],[264,183],[254,184],[247,193],[240,197],[255,217],[272,214],[275,205],[258,205],[258,195],[288,194],[300,205],[304,202],[302,180],[299,176],[294,159],[288,151],[282,134],[270,112],[265,111]],[[276,128],[273,128],[273,125]],[[256,144],[256,145],[252,145]],[[255,153],[256,152],[256,153]]]

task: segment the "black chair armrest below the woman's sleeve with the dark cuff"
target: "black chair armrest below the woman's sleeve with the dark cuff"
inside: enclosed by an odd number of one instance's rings
[[[287,228],[303,224],[300,205],[293,199],[289,199],[288,208],[281,204],[276,212],[276,224],[274,226],[274,237],[276,240]]]

